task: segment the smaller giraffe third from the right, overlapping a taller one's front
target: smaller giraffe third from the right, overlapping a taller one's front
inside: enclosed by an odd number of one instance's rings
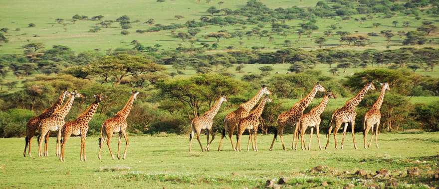
[[[316,131],[317,131],[317,141],[319,142],[319,149],[322,150],[322,145],[320,144],[320,132],[319,132],[320,121],[321,121],[320,115],[325,110],[326,105],[328,104],[329,98],[337,99],[337,96],[332,94],[332,92],[326,93],[323,96],[323,99],[318,106],[312,108],[308,113],[303,114],[300,117],[300,120],[299,120],[300,146],[302,147],[302,150],[305,150],[304,146],[306,146],[306,144],[305,144],[305,140],[303,139],[303,135],[305,134],[305,131],[308,127],[311,127],[311,132],[309,134],[308,150],[311,149],[311,138],[312,138],[312,133],[314,131],[314,127],[316,128]]]

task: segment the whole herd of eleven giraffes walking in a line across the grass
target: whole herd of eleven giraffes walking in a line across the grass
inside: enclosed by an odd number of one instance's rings
[[[356,106],[360,103],[360,101],[364,98],[364,96],[367,94],[369,90],[376,90],[375,86],[372,84],[372,82],[368,82],[360,92],[358,92],[357,95],[346,101],[345,105],[339,109],[336,109],[332,113],[331,121],[329,123],[329,129],[327,134],[327,142],[325,149],[329,146],[329,136],[332,132],[332,128],[334,127],[334,145],[335,148],[337,147],[337,139],[336,135],[342,124],[344,123],[343,128],[343,135],[342,135],[342,141],[340,148],[343,149],[343,143],[346,135],[347,127],[349,126],[349,123],[351,125],[351,133],[352,133],[352,139],[354,142],[354,148],[357,149],[357,145],[355,143],[355,135],[354,135],[354,128],[355,128],[355,119],[357,116],[357,113],[355,112]],[[386,90],[390,90],[389,84],[386,82],[384,84],[381,84],[381,93],[377,99],[377,101],[374,103],[372,108],[365,114],[364,117],[364,124],[363,124],[363,142],[364,142],[364,148],[368,148],[371,145],[371,142],[373,140],[373,136],[375,135],[375,144],[376,148],[378,148],[378,127],[380,125],[381,120],[381,113],[380,108],[383,103],[384,95]],[[308,113],[303,114],[304,110],[308,107],[308,105],[311,103],[311,101],[314,99],[315,95],[318,92],[322,92],[323,98],[319,105],[312,108]],[[99,153],[98,153],[98,159],[101,160],[101,151],[103,147],[103,143],[106,140],[106,144],[108,146],[110,156],[112,159],[114,159],[113,153],[110,148],[110,140],[113,136],[113,134],[118,133],[119,134],[119,140],[118,140],[118,150],[117,150],[117,158],[120,159],[120,145],[122,136],[125,139],[125,150],[122,159],[126,159],[127,155],[127,149],[128,149],[128,123],[127,123],[127,117],[130,113],[130,110],[133,106],[134,100],[137,98],[137,95],[139,92],[132,92],[131,96],[128,99],[128,102],[125,104],[125,106],[116,113],[116,115],[112,118],[109,118],[105,120],[102,123],[101,126],[101,136],[98,139],[99,142]],[[267,87],[263,86],[260,88],[260,90],[254,95],[252,98],[250,98],[248,101],[240,104],[238,108],[230,113],[228,113],[223,121],[223,129],[221,132],[221,139],[219,141],[218,151],[221,151],[221,144],[222,140],[226,135],[226,132],[228,133],[228,137],[230,140],[230,144],[232,147],[232,150],[234,151],[241,151],[241,138],[242,134],[245,130],[248,131],[248,143],[247,143],[247,151],[249,151],[249,145],[251,143],[252,150],[258,151],[257,146],[257,130],[259,127],[259,118],[264,110],[264,107],[267,103],[272,102],[272,99],[268,97],[268,95],[271,95],[271,92],[267,89]],[[66,102],[63,105],[63,102],[65,98],[68,98]],[[26,149],[28,147],[27,155],[31,157],[30,153],[30,146],[31,146],[31,140],[32,137],[35,135],[35,131],[38,131],[38,156],[42,157],[48,156],[47,152],[47,143],[49,139],[50,131],[56,132],[56,149],[55,154],[59,158],[61,162],[64,161],[64,150],[65,150],[65,144],[67,143],[69,137],[73,135],[81,135],[81,144],[80,144],[80,160],[81,161],[87,161],[86,155],[85,155],[85,140],[88,132],[88,123],[92,119],[93,115],[95,114],[99,103],[103,100],[104,95],[103,94],[96,94],[94,95],[95,101],[90,104],[90,106],[85,109],[79,116],[72,121],[65,122],[64,118],[70,111],[72,104],[74,102],[74,99],[76,97],[84,97],[83,95],[72,91],[63,91],[57,101],[49,108],[44,110],[39,116],[31,118],[27,124],[26,124],[26,137],[25,137],[25,146],[24,146],[24,152],[23,156],[26,156]],[[261,99],[262,98],[262,99]],[[306,95],[304,98],[299,100],[298,102],[294,103],[293,106],[285,112],[282,112],[278,115],[276,123],[277,123],[277,129],[274,132],[273,141],[270,145],[269,150],[273,150],[274,142],[277,138],[277,135],[280,137],[280,141],[282,144],[282,149],[285,150],[285,144],[283,140],[283,131],[285,127],[293,127],[293,140],[291,148],[293,150],[297,150],[297,144],[300,138],[300,144],[302,150],[310,150],[311,148],[311,138],[314,131],[314,128],[316,128],[316,134],[317,134],[317,141],[319,144],[319,149],[322,150],[322,146],[320,144],[320,133],[319,133],[319,127],[321,122],[321,114],[325,110],[329,98],[336,98],[334,94],[330,91],[326,91],[325,88],[323,88],[319,83],[314,85],[311,92]],[[225,96],[220,96],[218,101],[212,106],[211,109],[206,111],[203,115],[195,117],[191,122],[191,134],[189,136],[189,152],[192,152],[192,140],[194,138],[197,138],[198,143],[200,144],[200,148],[202,151],[210,151],[210,146],[215,139],[215,132],[212,129],[213,126],[213,120],[214,117],[219,112],[219,109],[221,107],[221,104],[223,102],[226,102],[227,99]],[[258,104],[259,103],[259,104]],[[256,104],[258,104],[256,106]],[[253,109],[253,107],[256,106],[256,108]],[[309,143],[308,147],[306,147],[305,140],[304,140],[304,134],[308,127],[311,127],[310,136],[309,136]],[[375,133],[374,133],[374,127],[375,127]],[[372,138],[368,145],[366,145],[366,139],[367,134],[369,130],[372,129]],[[207,145],[205,148],[203,148],[203,145],[200,141],[200,135],[203,130],[206,130],[207,132]],[[236,144],[233,145],[232,141],[232,135],[234,133],[234,130],[236,130]],[[210,135],[212,135],[212,139],[209,140]],[[44,140],[44,149],[42,152],[42,143]]]

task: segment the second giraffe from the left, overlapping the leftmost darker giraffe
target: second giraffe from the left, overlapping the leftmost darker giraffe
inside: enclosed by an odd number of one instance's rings
[[[61,109],[55,111],[50,117],[42,119],[38,124],[38,130],[40,133],[40,137],[38,140],[38,156],[41,157],[41,145],[42,140],[49,135],[49,131],[58,131],[57,137],[56,137],[56,156],[59,156],[60,152],[60,139],[61,139],[61,128],[62,125],[64,125],[64,118],[70,111],[70,108],[72,107],[73,101],[75,100],[75,97],[83,97],[81,94],[76,92],[71,92],[68,94],[68,100],[65,102],[65,104],[62,106]],[[44,156],[49,156],[47,153],[47,143],[45,145],[44,149]]]

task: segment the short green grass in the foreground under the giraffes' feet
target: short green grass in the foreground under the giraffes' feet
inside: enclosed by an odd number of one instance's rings
[[[202,135],[204,145],[205,137]],[[292,136],[284,138],[289,147]],[[329,149],[319,151],[315,136],[311,151],[289,148],[283,151],[279,141],[275,143],[274,151],[268,151],[272,135],[259,135],[259,152],[231,151],[228,141],[224,141],[223,151],[218,152],[217,135],[211,152],[204,153],[197,141],[193,143],[193,152],[188,153],[186,135],[144,135],[129,139],[131,144],[126,160],[111,160],[107,147],[104,147],[103,160],[100,161],[97,159],[97,137],[88,137],[86,163],[79,161],[79,137],[73,137],[67,143],[64,163],[54,156],[54,138],[50,139],[48,158],[35,157],[35,142],[32,145],[33,157],[23,158],[23,138],[0,139],[0,148],[3,149],[0,188],[262,188],[266,180],[277,181],[279,177],[288,178],[288,186],[300,188],[318,187],[322,182],[327,182],[332,188],[349,184],[365,187],[370,183],[384,185],[391,180],[365,179],[356,176],[355,171],[361,169],[374,175],[383,168],[389,170],[400,187],[438,186],[438,182],[432,181],[431,174],[438,170],[439,133],[380,134],[380,149],[372,147],[368,150],[354,150],[348,135],[343,151],[334,149],[332,138]],[[322,135],[323,145],[324,140]],[[356,140],[362,147],[362,135],[357,134]],[[244,138],[243,143],[246,141]],[[113,152],[116,143],[116,139],[112,140]],[[122,149],[123,145],[122,142]],[[319,165],[327,167],[318,173],[310,171]],[[421,176],[406,177],[406,170],[410,167],[419,167]],[[400,172],[403,176],[398,176]]]

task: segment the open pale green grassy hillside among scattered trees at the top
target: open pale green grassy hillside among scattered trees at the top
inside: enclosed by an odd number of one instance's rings
[[[270,8],[276,7],[315,7],[318,0],[261,0]],[[0,47],[0,54],[19,54],[22,52],[21,46],[30,42],[43,42],[47,48],[52,45],[66,45],[71,47],[76,52],[82,52],[86,50],[101,49],[102,51],[107,49],[114,49],[117,47],[132,48],[133,45],[129,44],[132,40],[138,40],[139,43],[145,46],[152,46],[154,44],[163,45],[162,49],[175,49],[179,45],[190,46],[189,42],[182,42],[171,35],[171,31],[160,31],[160,32],[148,32],[144,34],[135,33],[137,29],[147,29],[150,26],[144,24],[144,22],[150,18],[154,18],[156,23],[159,24],[170,24],[170,23],[185,23],[188,20],[199,20],[200,16],[209,16],[206,10],[210,6],[218,5],[219,0],[212,0],[211,3],[207,4],[204,0],[200,3],[196,3],[195,0],[166,0],[165,2],[159,3],[156,0],[131,0],[129,2],[121,2],[119,0],[78,0],[74,2],[65,1],[53,1],[53,0],[41,0],[38,3],[34,3],[31,0],[15,0],[13,3],[9,1],[0,1],[0,6],[3,7],[0,10],[0,27],[9,28],[9,32],[6,37],[9,39],[9,43],[3,43]],[[401,1],[404,2],[404,1]],[[246,0],[227,0],[220,8],[230,8],[236,9],[241,7],[246,3]],[[331,4],[330,1],[327,2]],[[131,34],[123,36],[120,34],[121,28],[118,23],[113,23],[111,27],[102,27],[101,31],[97,33],[89,33],[88,30],[94,28],[96,23],[99,21],[92,20],[78,20],[76,23],[72,23],[71,17],[74,14],[87,15],[89,18],[96,15],[103,15],[104,20],[112,19],[115,20],[121,15],[128,15],[131,20],[139,20],[140,22],[132,23],[133,28],[128,29]],[[184,16],[183,19],[177,20],[174,18],[175,15]],[[341,20],[340,17],[336,19],[330,18],[318,18],[317,25],[318,30],[315,30],[311,38],[302,36],[299,42],[294,42],[294,47],[302,47],[304,49],[316,49],[318,48],[313,42],[313,38],[317,36],[323,36],[323,32],[328,30],[328,26],[331,24],[336,24],[341,27],[341,29],[336,29],[335,31],[349,31],[353,34],[364,34],[368,32],[377,32],[381,30],[392,30],[396,31],[411,31],[416,30],[418,26],[421,25],[423,20],[430,20],[437,23],[438,17],[433,15],[428,15],[425,13],[420,13],[422,17],[421,20],[416,20],[414,15],[402,15],[397,14],[392,18],[382,18],[383,15],[377,14],[374,19],[368,19],[363,23],[359,21],[354,21],[355,18],[365,17],[366,15],[354,15],[351,20]],[[67,25],[56,24],[55,19],[62,18],[65,19]],[[392,24],[393,20],[398,20],[399,24],[394,27]],[[409,21],[410,26],[408,28],[402,27],[403,21]],[[382,25],[379,27],[372,26],[372,23],[379,22]],[[28,23],[36,24],[36,27],[27,27]],[[289,20],[285,24],[290,26],[295,26],[296,28],[291,31],[296,31],[299,28],[299,23],[302,20]],[[248,31],[255,25],[247,24],[246,29],[242,29],[242,25],[210,25],[201,28],[201,32],[196,36],[198,42],[196,46],[200,46],[201,42],[215,43],[216,40],[210,38],[205,39],[203,36],[209,32],[219,31],[225,29],[229,32],[234,30]],[[19,31],[15,31],[15,28],[19,28]],[[63,28],[66,28],[63,29]],[[262,30],[270,30],[271,26],[269,23],[265,24]],[[187,29],[178,29],[176,32],[185,32]],[[290,34],[288,36],[279,36],[273,34],[273,43],[268,43],[268,37],[250,37],[244,36],[242,39],[230,38],[226,40],[221,40],[219,42],[219,50],[213,50],[213,52],[223,51],[227,46],[234,46],[234,48],[250,48],[253,46],[265,47],[266,50],[272,51],[275,47],[284,47],[284,40],[295,41],[298,38],[297,34]],[[392,38],[390,44],[387,40],[382,37],[370,37],[370,42],[366,47],[344,47],[339,41],[340,36],[333,35],[327,37],[328,41],[325,48],[337,47],[337,48],[349,48],[349,49],[386,49],[386,46],[390,46],[391,49],[397,49],[402,47],[402,40],[399,36]],[[428,36],[429,39],[433,39],[432,43],[427,43],[422,46],[415,47],[438,47],[439,35],[433,33]],[[240,46],[238,41],[243,41],[243,45]],[[342,46],[340,46],[342,45]],[[407,47],[407,46],[405,46]]]

